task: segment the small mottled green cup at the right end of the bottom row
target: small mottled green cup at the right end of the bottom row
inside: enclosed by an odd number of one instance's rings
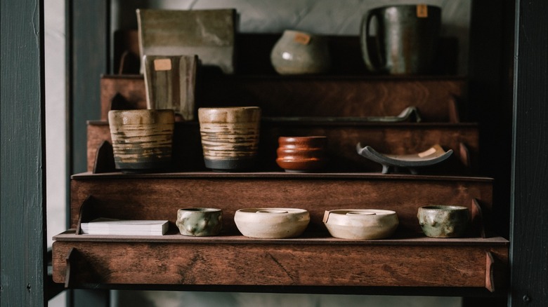
[[[431,238],[459,238],[466,233],[470,214],[467,207],[429,205],[419,207],[417,218],[424,235]]]

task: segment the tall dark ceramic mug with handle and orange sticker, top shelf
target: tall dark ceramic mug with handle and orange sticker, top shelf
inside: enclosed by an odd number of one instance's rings
[[[376,20],[377,34],[370,35]],[[397,5],[374,8],[363,16],[360,43],[370,71],[429,74],[438,49],[441,8]]]

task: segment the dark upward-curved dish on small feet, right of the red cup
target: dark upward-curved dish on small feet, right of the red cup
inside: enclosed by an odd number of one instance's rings
[[[356,151],[358,151],[360,156],[380,163],[382,165],[383,174],[389,174],[398,168],[406,168],[413,175],[418,174],[419,168],[441,163],[453,153],[452,149],[445,151],[438,144],[431,146],[426,151],[405,155],[379,153],[371,146],[362,147],[360,143],[356,144]]]

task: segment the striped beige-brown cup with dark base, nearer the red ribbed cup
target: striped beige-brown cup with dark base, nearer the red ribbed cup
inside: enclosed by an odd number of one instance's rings
[[[204,163],[230,172],[253,168],[259,149],[259,107],[198,109]]]

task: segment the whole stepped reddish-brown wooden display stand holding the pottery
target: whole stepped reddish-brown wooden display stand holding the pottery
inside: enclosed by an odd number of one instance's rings
[[[493,179],[476,175],[481,144],[478,124],[462,121],[468,99],[465,78],[246,75],[202,76],[199,81],[199,107],[256,105],[269,118],[261,125],[256,170],[206,170],[199,125],[189,122],[176,123],[173,172],[94,174],[98,147],[110,141],[105,114],[112,97],[118,93],[135,108],[142,108],[145,101],[142,78],[103,76],[102,118],[87,126],[89,172],[71,179],[73,229],[56,236],[53,244],[56,282],[107,289],[119,285],[442,287],[456,289],[457,295],[470,289],[505,295],[509,242],[490,226]],[[413,107],[422,116],[419,123],[348,121],[394,116],[410,107],[410,101],[417,102]],[[308,116],[325,121],[287,121],[287,117]],[[325,172],[289,174],[275,165],[277,139],[289,135],[327,135],[330,165]],[[383,175],[381,165],[355,152],[358,142],[393,153],[440,144],[454,155],[420,175]],[[470,208],[473,226],[465,238],[422,235],[417,210],[437,204]],[[221,208],[221,236],[178,234],[174,222],[181,207]],[[245,238],[233,221],[234,212],[244,207],[299,207],[311,213],[311,223],[299,238]],[[398,231],[386,240],[332,238],[322,216],[325,210],[342,208],[394,210],[400,219]],[[79,223],[90,217],[167,219],[171,226],[166,236],[157,238],[79,234]]]

